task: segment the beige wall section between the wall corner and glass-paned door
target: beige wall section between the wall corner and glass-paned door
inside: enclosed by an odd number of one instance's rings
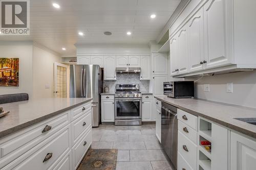
[[[33,98],[53,98],[53,64],[61,62],[60,56],[33,46]],[[50,88],[46,88],[49,85]]]

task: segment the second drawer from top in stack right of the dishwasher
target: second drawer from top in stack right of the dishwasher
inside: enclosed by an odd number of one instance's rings
[[[188,139],[193,141],[195,144],[197,144],[197,131],[190,128],[180,120],[178,120],[178,129],[183,135],[185,135]]]

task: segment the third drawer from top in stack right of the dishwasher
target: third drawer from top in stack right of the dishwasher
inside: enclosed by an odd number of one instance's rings
[[[197,169],[197,145],[180,131],[178,131],[178,152],[193,169]]]

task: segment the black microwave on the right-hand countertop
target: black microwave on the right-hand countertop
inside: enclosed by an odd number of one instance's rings
[[[164,82],[163,94],[170,98],[193,98],[194,81]]]

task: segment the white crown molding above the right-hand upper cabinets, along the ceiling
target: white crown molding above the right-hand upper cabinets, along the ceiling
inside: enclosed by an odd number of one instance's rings
[[[177,20],[177,18],[180,16],[182,11],[187,7],[187,5],[190,3],[192,0],[181,0],[180,4],[174,11],[173,15],[169,18],[167,21],[166,25],[164,26],[163,30],[161,33],[158,35],[156,42],[159,43],[164,34],[167,32],[167,30],[172,27],[173,23]]]

